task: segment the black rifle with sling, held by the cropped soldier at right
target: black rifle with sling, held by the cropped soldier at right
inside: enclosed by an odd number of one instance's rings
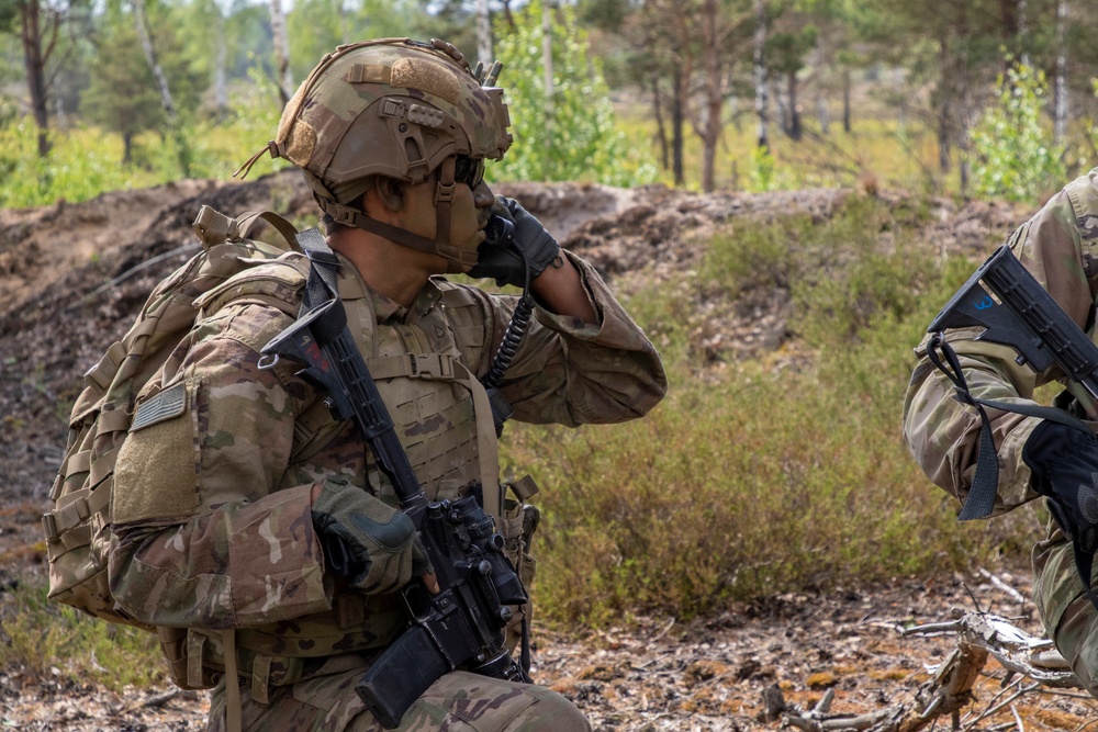
[[[928,333],[934,334],[928,345],[927,356],[953,382],[957,399],[976,408],[982,423],[976,474],[959,517],[961,520],[989,516],[995,505],[998,459],[991,440],[990,420],[984,407],[1047,419],[1094,437],[1094,430],[1086,423],[1064,409],[974,397],[968,392],[960,360],[945,341],[943,333],[946,328],[973,326],[985,328],[976,340],[1009,346],[1018,353],[1015,360],[1020,365],[1028,364],[1037,372],[1055,364],[1068,380],[1098,401],[1098,346],[1018,261],[1010,248],[999,247],[968,278],[927,328]],[[938,351],[941,351],[941,358]],[[1065,521],[1056,515],[1055,503],[1051,508],[1061,527],[1065,527]],[[1080,537],[1071,536],[1066,528],[1065,533],[1072,539],[1075,566],[1083,586],[1090,601],[1098,608],[1098,594],[1090,587],[1095,548],[1083,545],[1086,542]]]

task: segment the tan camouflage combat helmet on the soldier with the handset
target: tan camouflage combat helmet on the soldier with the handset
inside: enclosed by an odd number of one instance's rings
[[[278,153],[329,188],[369,174],[418,182],[450,155],[498,160],[512,143],[503,90],[467,66],[410,38],[341,46],[287,104]]]

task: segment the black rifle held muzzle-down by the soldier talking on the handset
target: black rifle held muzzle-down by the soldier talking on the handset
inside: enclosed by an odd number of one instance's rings
[[[298,320],[261,349],[261,365],[270,368],[279,358],[303,363],[299,375],[327,394],[333,416],[354,421],[419,531],[439,586],[432,594],[413,579],[403,589],[412,626],[370,666],[356,691],[392,729],[428,686],[456,668],[528,682],[504,646],[509,606],[528,598],[503,553],[503,537],[474,495],[427,499],[347,329],[335,288],[338,259],[315,229],[298,239],[313,262],[305,302]]]

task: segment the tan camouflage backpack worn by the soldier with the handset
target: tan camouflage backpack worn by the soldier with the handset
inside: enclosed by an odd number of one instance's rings
[[[260,221],[271,224],[287,246],[248,239]],[[296,230],[270,212],[233,219],[202,206],[194,230],[202,250],[153,290],[125,337],[85,374],[88,385],[72,407],[65,458],[49,494],[51,510],[42,518],[49,598],[146,630],[154,629],[117,606],[107,577],[114,463],[133,419],[134,398],[190,331],[201,295],[257,264],[300,251]],[[296,317],[296,303],[276,305]]]

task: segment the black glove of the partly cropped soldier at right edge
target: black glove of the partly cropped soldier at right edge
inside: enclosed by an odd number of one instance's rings
[[[1026,440],[1022,460],[1033,471],[1033,489],[1067,538],[1087,554],[1098,550],[1098,437],[1042,421]]]

